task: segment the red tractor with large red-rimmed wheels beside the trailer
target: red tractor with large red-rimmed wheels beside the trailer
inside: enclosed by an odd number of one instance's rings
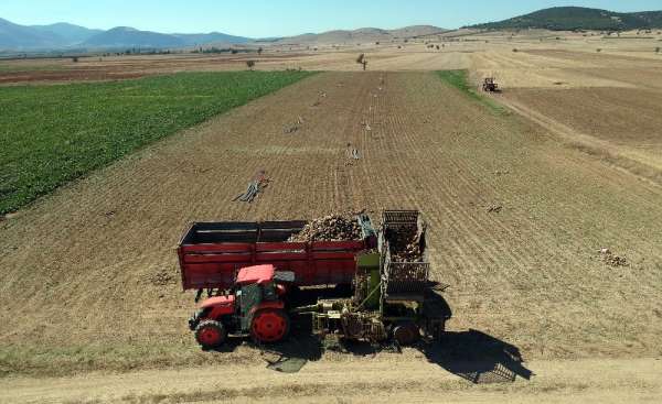
[[[210,297],[189,319],[189,327],[204,349],[222,346],[228,336],[253,337],[258,343],[274,343],[289,332],[284,297],[292,272],[276,272],[274,265],[242,269],[231,293]]]

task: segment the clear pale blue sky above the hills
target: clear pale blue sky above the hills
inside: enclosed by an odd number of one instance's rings
[[[0,0],[0,18],[19,24],[64,21],[98,29],[265,37],[363,26],[458,28],[554,6],[643,11],[662,10],[662,0]]]

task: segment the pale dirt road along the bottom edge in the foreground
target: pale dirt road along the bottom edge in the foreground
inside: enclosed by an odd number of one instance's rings
[[[530,381],[470,384],[425,361],[205,367],[0,380],[3,403],[659,403],[662,360],[535,361]]]

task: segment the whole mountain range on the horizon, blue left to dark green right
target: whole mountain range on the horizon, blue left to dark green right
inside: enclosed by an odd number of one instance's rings
[[[662,11],[619,13],[580,7],[557,7],[500,22],[468,26],[482,30],[598,30],[624,31],[662,28]],[[399,30],[364,28],[354,31],[329,31],[320,34],[302,34],[284,39],[252,40],[220,32],[206,34],[163,34],[118,26],[108,31],[89,30],[68,23],[51,25],[19,25],[0,19],[0,51],[50,50],[115,50],[115,48],[181,48],[209,44],[245,44],[271,42],[277,44],[342,44],[388,42],[434,35],[446,30],[431,25],[415,25]]]

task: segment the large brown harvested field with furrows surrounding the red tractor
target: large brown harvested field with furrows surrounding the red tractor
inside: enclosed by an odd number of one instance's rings
[[[269,187],[233,203],[260,170]],[[661,200],[659,186],[433,73],[320,74],[1,221],[0,363],[7,373],[255,363],[247,347],[201,352],[186,329],[193,296],[180,291],[173,251],[186,223],[384,208],[426,216],[434,276],[451,285],[449,329],[479,329],[534,361],[660,357]],[[630,265],[607,265],[601,248]],[[338,361],[363,371],[352,357],[319,365]]]

